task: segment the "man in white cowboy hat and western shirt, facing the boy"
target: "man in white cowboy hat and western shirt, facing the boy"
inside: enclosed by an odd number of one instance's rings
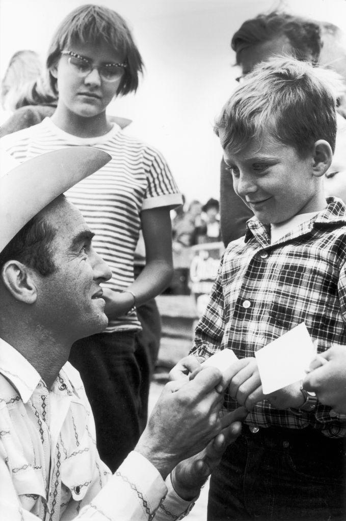
[[[91,147],[69,147],[5,175],[0,165],[4,521],[176,519],[240,432],[236,419],[244,413],[222,417],[215,389],[221,374],[208,368],[188,383],[167,384],[135,451],[113,476],[100,460],[90,405],[67,358],[75,340],[107,325],[100,284],[110,270],[79,210],[61,194],[109,159]]]

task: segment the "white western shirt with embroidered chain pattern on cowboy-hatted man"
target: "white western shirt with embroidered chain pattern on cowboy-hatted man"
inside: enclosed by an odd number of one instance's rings
[[[96,448],[78,371],[67,362],[48,390],[32,365],[0,339],[2,521],[163,521],[191,506],[137,452],[112,476]]]

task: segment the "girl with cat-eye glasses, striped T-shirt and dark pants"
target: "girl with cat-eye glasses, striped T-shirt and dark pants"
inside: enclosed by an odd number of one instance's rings
[[[140,373],[135,355],[140,330],[136,306],[171,280],[170,209],[182,200],[162,155],[124,134],[106,115],[114,96],[136,91],[143,67],[120,15],[93,4],[77,7],[53,35],[46,65],[57,96],[53,116],[1,141],[18,160],[80,145],[112,155],[109,164],[70,189],[67,197],[96,231],[95,247],[112,269],[103,289],[109,326],[77,341],[70,362],[79,370],[91,403],[100,455],[115,470],[138,441],[141,379],[149,378]],[[146,266],[134,280],[140,229]]]

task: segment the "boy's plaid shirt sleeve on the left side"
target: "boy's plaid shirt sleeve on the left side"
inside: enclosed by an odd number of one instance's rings
[[[221,257],[216,280],[213,284],[209,303],[195,330],[195,341],[190,354],[209,358],[220,351],[225,329],[224,295],[222,288],[222,268],[224,255]]]

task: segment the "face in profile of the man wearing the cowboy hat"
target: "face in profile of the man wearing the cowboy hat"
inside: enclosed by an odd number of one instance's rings
[[[93,250],[93,234],[75,206],[59,199],[43,212],[47,224],[57,230],[51,244],[56,269],[47,277],[37,275],[35,305],[43,327],[73,342],[108,325],[99,284],[112,274]]]

